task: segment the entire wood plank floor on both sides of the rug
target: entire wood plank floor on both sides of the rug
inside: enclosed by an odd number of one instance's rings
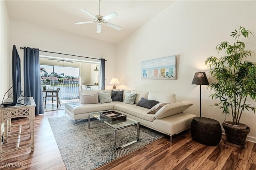
[[[48,111],[44,115],[36,116],[35,151],[24,149],[3,154],[1,170],[66,170],[48,122],[48,118],[60,116],[64,116],[64,110]],[[12,121],[12,124],[25,121],[26,119],[19,119]],[[22,127],[23,130],[28,130],[28,126]],[[11,133],[15,131],[14,128]],[[28,141],[28,135],[22,136],[20,146],[28,145]],[[2,145],[2,148],[7,150],[15,148],[15,145],[14,138],[9,138],[8,143]],[[256,170],[256,143],[246,142],[245,149],[225,145],[223,140],[218,146],[206,146],[192,140],[190,132],[186,131],[176,135],[172,143],[169,137],[164,137],[97,168],[97,170],[121,169]]]

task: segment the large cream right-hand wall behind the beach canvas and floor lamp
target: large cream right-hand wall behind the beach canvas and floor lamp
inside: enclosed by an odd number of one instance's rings
[[[191,84],[195,72],[206,72],[212,82],[204,61],[210,56],[222,56],[215,47],[222,41],[231,41],[229,35],[237,25],[254,32],[254,37],[243,41],[256,52],[255,8],[255,1],[176,1],[118,43],[118,88],[175,93],[177,101],[191,100],[194,105],[187,111],[199,116],[199,86]],[[176,55],[177,80],[140,80],[142,61],[172,55]],[[255,55],[250,60],[255,62]],[[202,116],[222,124],[225,115],[210,106],[214,101],[208,97],[210,90],[206,87],[202,86]],[[244,112],[241,122],[250,126],[248,139],[256,142],[256,114]]]

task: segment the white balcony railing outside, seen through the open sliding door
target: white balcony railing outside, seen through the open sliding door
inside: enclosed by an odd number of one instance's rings
[[[42,87],[46,86],[46,89],[57,89],[60,88],[58,93],[60,100],[72,100],[72,99],[79,99],[79,84],[41,84]],[[43,93],[43,96],[45,93]],[[51,100],[50,98],[47,99]],[[54,99],[56,100],[56,99]]]

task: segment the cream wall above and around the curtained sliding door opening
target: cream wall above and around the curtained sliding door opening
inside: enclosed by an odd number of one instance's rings
[[[115,76],[113,64],[116,64],[116,44],[114,43],[83,37],[81,35],[10,18],[10,47],[12,47],[12,45],[16,45],[22,63],[23,50],[20,49],[20,47],[26,46],[39,48],[43,51],[107,59],[106,79],[110,81],[111,78]],[[40,55],[66,57],[44,52],[40,52]],[[83,58],[74,57],[74,59]],[[99,62],[99,60],[91,61]],[[21,68],[23,70],[23,65]],[[106,86],[106,89],[111,88],[112,86]]]

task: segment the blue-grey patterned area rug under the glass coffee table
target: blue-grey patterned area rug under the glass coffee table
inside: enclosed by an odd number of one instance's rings
[[[114,130],[97,119],[90,121],[93,129],[88,129],[88,119],[76,121],[76,125],[68,116],[48,120],[67,170],[98,168],[165,136],[140,125],[140,141],[115,151]],[[136,126],[116,131],[117,147],[136,140],[136,136]]]

